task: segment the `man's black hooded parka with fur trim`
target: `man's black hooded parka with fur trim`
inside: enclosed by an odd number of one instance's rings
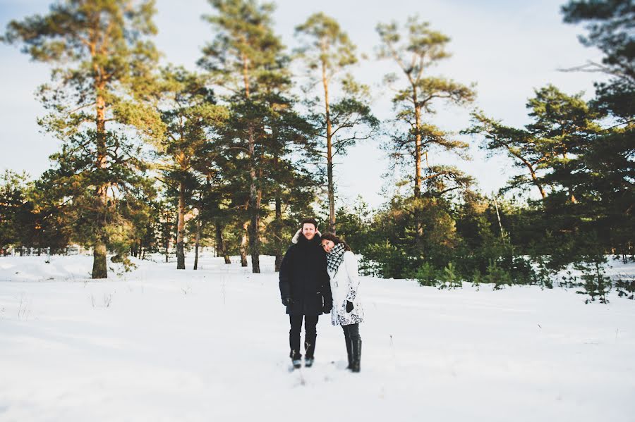
[[[280,296],[293,301],[286,306],[287,314],[320,315],[325,309],[331,309],[331,285],[319,234],[307,240],[300,233],[297,243],[284,254],[279,276]]]

